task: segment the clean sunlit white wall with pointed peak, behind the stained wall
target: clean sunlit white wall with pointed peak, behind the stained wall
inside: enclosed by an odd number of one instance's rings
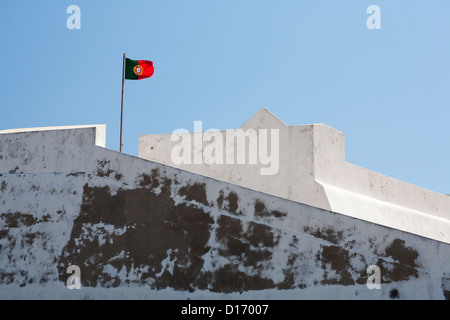
[[[450,243],[448,196],[346,162],[344,134],[324,124],[287,126],[263,108],[240,129],[272,128],[280,141],[275,175],[263,176],[264,165],[248,162],[174,163],[171,152],[179,142],[171,134],[140,136],[139,157]]]

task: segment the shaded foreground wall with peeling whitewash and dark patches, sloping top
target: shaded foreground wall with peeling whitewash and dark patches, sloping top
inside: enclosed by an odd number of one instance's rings
[[[447,243],[108,150],[104,133],[0,134],[1,299],[450,298]]]

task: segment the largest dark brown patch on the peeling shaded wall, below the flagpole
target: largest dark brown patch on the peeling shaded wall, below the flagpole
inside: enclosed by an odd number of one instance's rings
[[[101,244],[98,235],[83,231],[83,226],[99,223],[112,224],[123,232],[104,233]],[[202,256],[209,250],[212,223],[209,214],[183,204],[175,206],[164,193],[135,189],[111,195],[108,187],[85,185],[81,214],[58,262],[60,280],[67,279],[67,266],[75,264],[81,268],[84,286],[126,283],[127,279],[112,278],[104,271],[109,264],[118,271],[126,268],[127,273],[132,268],[142,269],[137,281],[152,288],[192,291],[200,276]],[[174,262],[172,270],[163,269],[165,259]]]

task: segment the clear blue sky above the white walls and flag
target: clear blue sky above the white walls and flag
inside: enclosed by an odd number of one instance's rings
[[[69,5],[81,29],[69,30]],[[381,29],[369,30],[369,5]],[[106,124],[140,134],[240,127],[265,107],[345,134],[348,162],[450,193],[450,1],[0,1],[0,129]]]

